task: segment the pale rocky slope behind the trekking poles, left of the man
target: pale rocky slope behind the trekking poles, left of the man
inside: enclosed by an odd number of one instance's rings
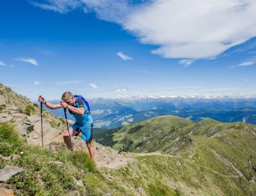
[[[30,99],[17,95],[9,87],[0,84],[0,123],[11,122],[29,144],[41,145],[40,107]],[[43,111],[44,145],[62,141],[61,132],[65,121],[52,113]]]

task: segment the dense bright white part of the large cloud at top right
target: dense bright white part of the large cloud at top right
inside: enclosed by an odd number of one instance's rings
[[[142,43],[160,45],[154,54],[209,58],[254,37],[253,18],[255,0],[156,0],[132,13],[124,26]]]

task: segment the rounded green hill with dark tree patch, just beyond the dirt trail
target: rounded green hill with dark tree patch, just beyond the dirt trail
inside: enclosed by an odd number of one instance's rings
[[[96,135],[98,143],[125,151],[152,152],[161,148],[161,140],[194,122],[176,116],[160,116],[122,126]]]

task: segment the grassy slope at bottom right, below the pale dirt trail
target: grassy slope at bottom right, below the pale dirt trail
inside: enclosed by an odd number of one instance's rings
[[[199,152],[200,154],[200,152]],[[111,171],[123,183],[151,196],[254,196],[256,185],[233,171],[219,171],[181,157],[138,156],[137,162]]]

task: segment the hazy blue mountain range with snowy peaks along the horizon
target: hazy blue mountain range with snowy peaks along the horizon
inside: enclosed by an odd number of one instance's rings
[[[59,103],[59,100],[51,100]],[[223,123],[246,122],[256,124],[256,98],[254,97],[200,97],[172,96],[153,98],[140,96],[133,98],[88,99],[95,127],[115,128],[137,123],[161,115],[175,115],[195,122],[214,119]],[[64,118],[63,109],[52,112]],[[74,120],[67,114],[68,119]]]

